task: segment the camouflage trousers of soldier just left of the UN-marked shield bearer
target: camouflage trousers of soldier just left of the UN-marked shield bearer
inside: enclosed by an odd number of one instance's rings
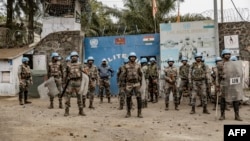
[[[206,81],[193,81],[193,88],[192,88],[192,106],[195,106],[196,97],[197,95],[201,95],[202,104],[207,105],[207,88],[206,88]]]

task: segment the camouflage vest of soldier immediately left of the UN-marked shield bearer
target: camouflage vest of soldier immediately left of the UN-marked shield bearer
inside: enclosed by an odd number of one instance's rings
[[[194,62],[191,69],[191,77],[195,81],[205,80],[206,78],[206,66],[204,63],[201,66]]]

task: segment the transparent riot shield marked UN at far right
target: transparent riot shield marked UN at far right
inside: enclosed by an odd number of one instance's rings
[[[225,98],[226,101],[237,101],[243,98],[243,70],[241,61],[225,62],[223,66]]]

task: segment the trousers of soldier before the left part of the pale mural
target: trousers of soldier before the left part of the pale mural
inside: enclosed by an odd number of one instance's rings
[[[176,84],[169,84],[167,83],[166,87],[165,87],[165,104],[169,103],[169,96],[170,93],[172,92],[173,97],[174,97],[174,103],[178,104],[178,97],[177,97],[177,89],[176,89]]]

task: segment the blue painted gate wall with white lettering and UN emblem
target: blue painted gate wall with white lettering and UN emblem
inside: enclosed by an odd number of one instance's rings
[[[123,64],[123,58],[128,57],[130,52],[135,52],[137,60],[140,60],[142,56],[155,56],[159,60],[159,43],[159,34],[87,37],[83,41],[83,58],[93,56],[96,66],[101,64],[103,58],[108,60],[108,64],[115,71],[114,77],[111,78],[111,94],[117,95],[116,73]]]

